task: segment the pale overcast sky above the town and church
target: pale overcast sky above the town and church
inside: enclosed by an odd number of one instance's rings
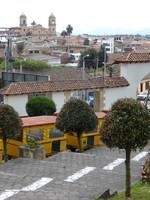
[[[28,25],[34,20],[47,28],[53,13],[57,32],[68,24],[73,34],[98,34],[97,29],[110,34],[108,27],[116,33],[150,28],[150,0],[1,0],[0,8],[0,27],[19,26],[24,13]]]

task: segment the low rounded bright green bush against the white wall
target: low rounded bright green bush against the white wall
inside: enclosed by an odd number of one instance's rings
[[[45,96],[33,96],[26,103],[29,116],[52,115],[56,112],[56,105],[52,99]]]

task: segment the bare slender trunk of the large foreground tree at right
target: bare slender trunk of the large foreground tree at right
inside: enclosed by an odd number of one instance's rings
[[[130,148],[126,149],[126,191],[125,191],[125,197],[130,198],[131,197],[131,174],[130,174],[130,155],[131,150]]]

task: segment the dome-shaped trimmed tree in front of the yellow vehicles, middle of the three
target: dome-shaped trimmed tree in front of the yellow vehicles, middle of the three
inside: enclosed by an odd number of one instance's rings
[[[57,119],[56,128],[68,134],[77,133],[79,152],[82,152],[80,136],[83,132],[92,131],[98,126],[98,118],[93,109],[81,99],[71,98],[62,107]]]

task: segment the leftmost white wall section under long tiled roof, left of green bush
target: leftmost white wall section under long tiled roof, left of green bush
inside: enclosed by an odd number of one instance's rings
[[[12,106],[20,116],[27,116],[25,105],[28,101],[28,95],[4,95],[4,104]]]

